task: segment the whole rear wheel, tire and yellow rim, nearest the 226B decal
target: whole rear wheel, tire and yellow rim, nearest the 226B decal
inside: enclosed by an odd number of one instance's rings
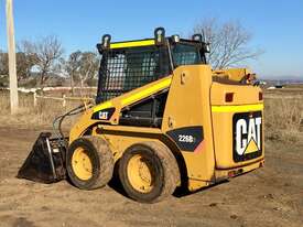
[[[119,177],[129,197],[155,203],[173,194],[180,182],[180,171],[170,149],[158,142],[142,142],[123,153]]]

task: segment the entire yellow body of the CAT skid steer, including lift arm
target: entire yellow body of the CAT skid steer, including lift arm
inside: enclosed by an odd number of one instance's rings
[[[134,143],[162,143],[176,156],[180,184],[185,182],[190,191],[258,169],[264,162],[262,91],[214,79],[225,75],[239,82],[246,74],[246,69],[214,72],[209,65],[180,66],[172,75],[87,109],[73,126],[69,143],[85,134],[101,137],[115,162]],[[165,90],[161,127],[120,125],[121,111]],[[202,130],[202,138],[193,136],[196,130]]]

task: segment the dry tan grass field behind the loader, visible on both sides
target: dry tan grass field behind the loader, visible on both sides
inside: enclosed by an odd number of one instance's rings
[[[303,90],[303,89],[302,89]],[[53,94],[52,94],[53,95]],[[264,95],[266,130],[277,132],[286,130],[289,132],[303,131],[303,93],[270,91]],[[9,93],[0,93],[0,122],[2,125],[20,126],[51,126],[55,117],[80,105],[79,101],[67,101],[66,107],[58,100],[39,99],[37,106],[33,106],[33,95],[20,94],[20,111],[10,116]],[[75,119],[66,122],[72,125]]]

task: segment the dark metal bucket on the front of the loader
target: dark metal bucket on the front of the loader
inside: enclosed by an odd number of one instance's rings
[[[18,172],[18,179],[40,183],[58,182],[66,176],[66,148],[61,138],[51,138],[50,132],[42,132],[32,151]]]

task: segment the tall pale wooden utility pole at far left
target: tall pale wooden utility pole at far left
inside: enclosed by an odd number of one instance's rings
[[[8,31],[8,54],[9,54],[9,73],[10,73],[10,104],[11,114],[18,111],[18,85],[15,67],[15,43],[13,28],[13,6],[12,0],[7,0],[7,31]]]

